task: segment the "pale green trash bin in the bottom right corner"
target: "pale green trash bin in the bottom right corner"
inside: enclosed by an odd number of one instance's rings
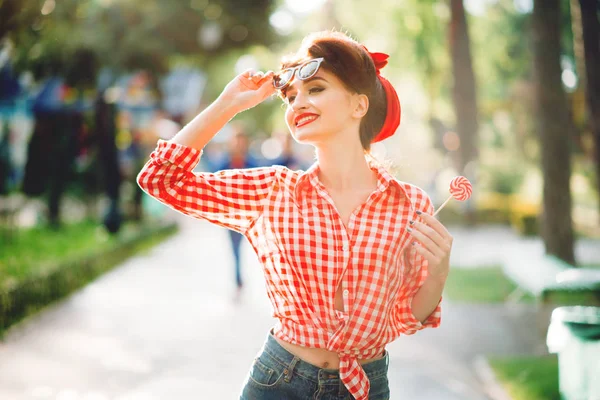
[[[546,344],[558,355],[561,398],[600,399],[600,307],[554,309]]]

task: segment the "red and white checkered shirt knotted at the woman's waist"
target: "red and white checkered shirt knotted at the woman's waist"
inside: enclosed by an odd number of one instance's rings
[[[274,335],[338,353],[342,381],[356,399],[367,399],[369,379],[358,359],[381,356],[401,334],[440,324],[439,304],[423,324],[411,311],[427,261],[406,227],[417,210],[432,213],[427,194],[368,158],[377,189],[344,227],[318,164],[306,172],[193,172],[201,154],[161,140],[138,184],[177,211],[243,233],[264,269],[278,320]],[[344,311],[334,305],[339,285]]]

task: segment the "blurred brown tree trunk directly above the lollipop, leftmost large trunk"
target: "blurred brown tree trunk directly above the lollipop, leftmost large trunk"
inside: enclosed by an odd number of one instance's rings
[[[475,75],[471,60],[469,31],[463,0],[451,0],[450,53],[454,75],[453,99],[456,131],[460,138],[459,173],[464,173],[469,161],[477,157],[477,98]]]

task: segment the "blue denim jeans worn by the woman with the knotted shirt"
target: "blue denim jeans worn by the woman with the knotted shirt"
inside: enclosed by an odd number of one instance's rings
[[[363,365],[371,389],[369,400],[389,400],[389,355]],[[352,400],[338,370],[300,360],[269,335],[254,360],[240,400]]]

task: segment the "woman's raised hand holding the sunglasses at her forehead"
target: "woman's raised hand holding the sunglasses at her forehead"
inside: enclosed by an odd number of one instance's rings
[[[225,86],[220,100],[226,102],[237,112],[242,112],[262,103],[275,93],[273,71],[267,73],[247,70]]]

